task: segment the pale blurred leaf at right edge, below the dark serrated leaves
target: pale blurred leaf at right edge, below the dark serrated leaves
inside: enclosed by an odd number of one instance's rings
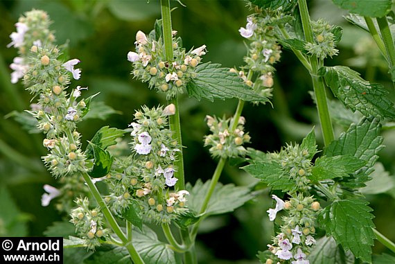
[[[385,193],[395,187],[394,176],[389,176],[383,164],[377,162],[374,164],[374,172],[371,173],[371,181],[366,183],[366,186],[361,188],[363,194],[378,194]]]

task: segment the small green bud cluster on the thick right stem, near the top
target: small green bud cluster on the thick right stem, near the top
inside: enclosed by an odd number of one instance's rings
[[[307,42],[305,49],[311,55],[316,55],[317,58],[324,60],[326,57],[337,55],[339,51],[335,49],[335,35],[333,35],[334,27],[328,22],[319,19],[318,21],[311,21],[315,42]]]

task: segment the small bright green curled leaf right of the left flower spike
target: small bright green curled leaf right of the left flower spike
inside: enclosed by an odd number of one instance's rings
[[[114,127],[101,127],[91,139],[91,143],[105,150],[107,147],[115,145],[116,139],[123,137],[125,133],[125,130],[119,130]],[[87,146],[85,155],[87,156],[87,159],[92,159],[94,157],[94,148],[91,146],[91,144]]]

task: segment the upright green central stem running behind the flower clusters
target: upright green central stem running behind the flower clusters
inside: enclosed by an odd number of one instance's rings
[[[161,0],[161,15],[164,35],[164,55],[166,60],[168,62],[171,62],[173,61],[173,37],[171,34],[170,0]],[[181,125],[179,121],[179,106],[177,96],[171,98],[169,100],[169,103],[173,103],[175,105],[175,114],[169,116],[170,130],[173,131],[173,137],[177,141],[179,146],[182,146]],[[177,152],[175,166],[177,167],[175,177],[178,179],[177,184],[175,184],[175,189],[183,190],[185,188],[185,179],[184,156],[182,154],[182,149]]]

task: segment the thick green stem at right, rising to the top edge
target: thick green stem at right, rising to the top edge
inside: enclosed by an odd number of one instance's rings
[[[306,0],[298,0],[298,3],[306,42],[313,43],[313,30],[311,29],[310,15],[308,15]],[[319,122],[321,123],[322,136],[324,137],[325,146],[328,146],[329,143],[335,139],[335,136],[333,134],[332,121],[328,109],[324,80],[322,80],[321,76],[318,76],[319,62],[317,60],[317,56],[312,55],[310,57],[310,65],[310,76],[313,80],[313,88],[315,100],[317,102]]]

